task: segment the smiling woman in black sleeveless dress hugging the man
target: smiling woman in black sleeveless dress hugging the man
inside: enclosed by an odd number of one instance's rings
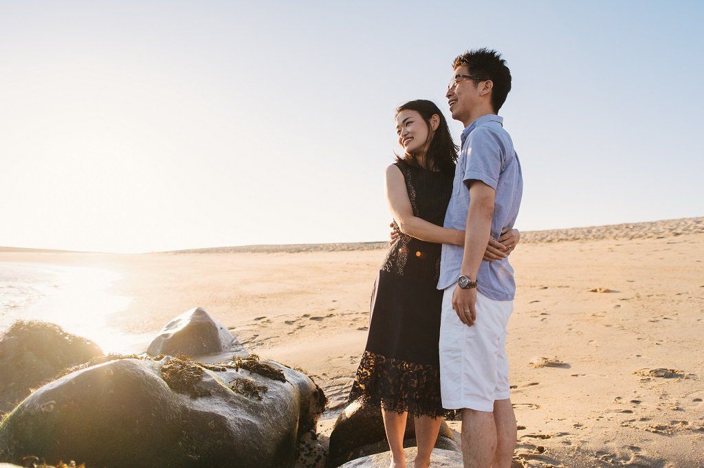
[[[428,467],[442,417],[438,342],[443,292],[436,289],[441,244],[464,245],[465,232],[442,227],[457,160],[447,122],[431,101],[396,109],[406,154],[386,169],[386,198],[400,234],[389,247],[372,293],[367,346],[348,400],[381,405],[390,467],[406,467],[403,433],[415,417],[415,468]],[[518,232],[489,241],[485,260],[508,255]]]

